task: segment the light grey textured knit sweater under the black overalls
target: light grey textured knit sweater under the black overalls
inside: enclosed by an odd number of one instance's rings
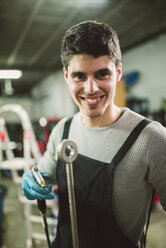
[[[69,139],[76,142],[78,152],[95,160],[110,163],[133,128],[144,117],[124,108],[121,117],[107,127],[91,128],[74,115]],[[56,148],[62,138],[62,119],[53,129],[40,169],[50,173],[56,183]],[[146,223],[153,187],[166,210],[166,129],[152,121],[115,169],[113,211],[117,223],[128,238],[138,243]]]

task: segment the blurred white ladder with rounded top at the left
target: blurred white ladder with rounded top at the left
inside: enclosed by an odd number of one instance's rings
[[[14,112],[18,115],[22,127],[23,127],[23,157],[15,157],[13,150],[10,146],[10,139],[5,125],[3,114],[5,112]],[[5,153],[5,157],[4,157]],[[17,104],[7,104],[0,106],[0,169],[10,170],[12,174],[13,182],[18,185],[18,200],[24,204],[24,215],[25,215],[25,247],[32,248],[35,240],[46,240],[44,231],[43,233],[36,233],[33,231],[33,223],[42,223],[42,218],[38,215],[32,214],[32,207],[37,206],[36,201],[27,200],[21,191],[20,183],[21,177],[18,171],[27,171],[31,168],[34,162],[38,163],[41,158],[41,153],[37,145],[36,137],[32,128],[31,121],[25,109]],[[55,207],[54,200],[47,201],[47,206]],[[56,210],[55,210],[56,211]],[[52,224],[51,218],[48,218],[48,224]],[[54,223],[55,232],[57,219],[55,218]],[[51,239],[53,237],[50,237]],[[35,246],[36,247],[36,246]]]

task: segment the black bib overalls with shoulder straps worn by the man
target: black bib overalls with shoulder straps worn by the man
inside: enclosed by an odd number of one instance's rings
[[[68,138],[71,119],[65,123],[62,139]],[[125,156],[141,130],[144,119],[132,131],[112,162],[103,163],[81,154],[73,163],[79,248],[137,248],[124,236],[112,211],[112,181],[115,166]],[[134,133],[134,134],[133,134]],[[66,179],[66,165],[58,162],[59,216],[53,248],[72,248],[72,234]],[[123,206],[122,206],[123,207]]]

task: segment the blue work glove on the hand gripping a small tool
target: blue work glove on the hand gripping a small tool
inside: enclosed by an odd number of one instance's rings
[[[40,171],[41,175],[44,179],[50,179],[50,176]],[[39,184],[35,181],[31,171],[24,172],[22,179],[21,179],[21,187],[22,192],[26,196],[28,200],[35,200],[35,199],[53,199],[54,194],[50,193],[52,190],[52,185],[46,185],[45,188],[39,186]]]

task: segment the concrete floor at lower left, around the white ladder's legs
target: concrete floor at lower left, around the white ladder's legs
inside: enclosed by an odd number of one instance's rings
[[[11,179],[3,178],[1,183],[8,188],[4,199],[4,217],[6,228],[3,233],[2,248],[25,248],[26,247],[26,224],[24,204],[18,200],[18,188]],[[36,209],[35,209],[36,208]],[[40,216],[36,206],[32,206],[32,214]],[[44,234],[42,224],[34,224],[33,231]],[[33,248],[46,248],[45,241],[36,241]]]

